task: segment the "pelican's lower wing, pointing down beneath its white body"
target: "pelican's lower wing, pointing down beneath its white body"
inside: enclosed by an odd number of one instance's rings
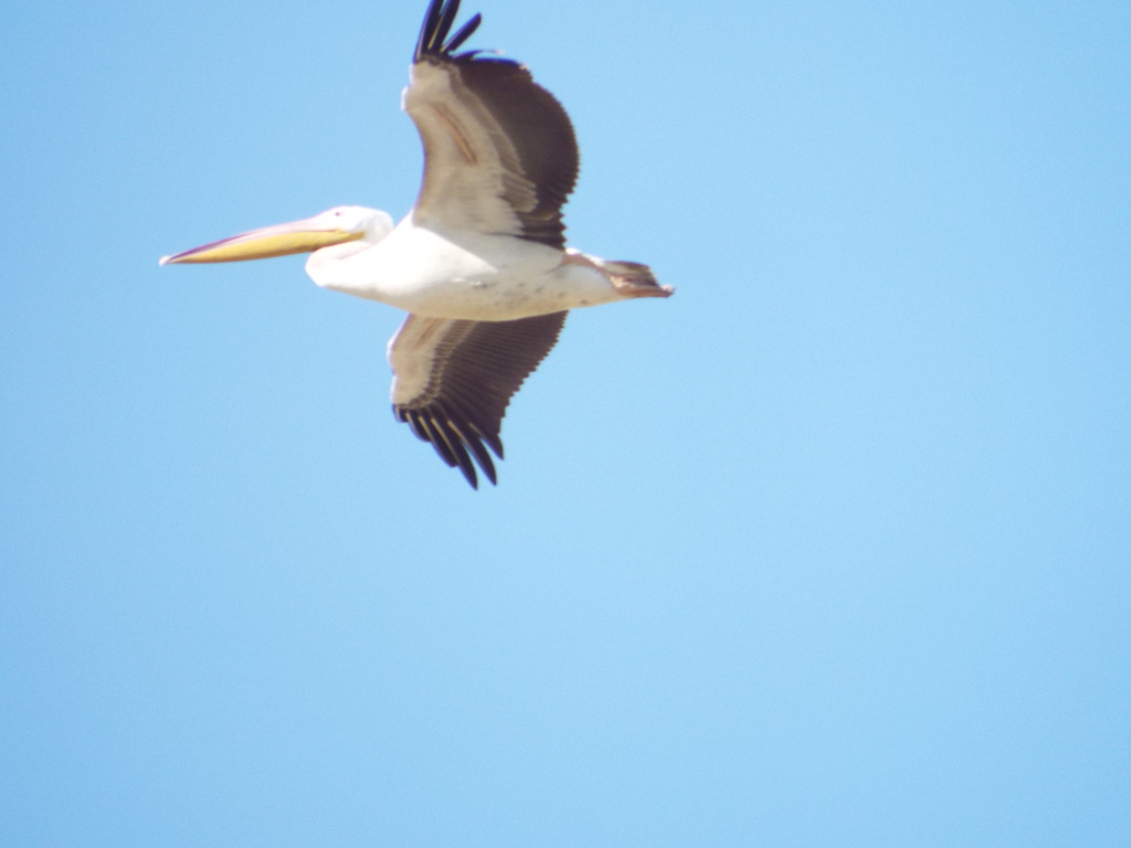
[[[502,459],[499,430],[507,405],[564,323],[564,312],[517,321],[408,315],[389,341],[394,415],[458,466],[473,487],[475,462],[494,483],[484,443]]]

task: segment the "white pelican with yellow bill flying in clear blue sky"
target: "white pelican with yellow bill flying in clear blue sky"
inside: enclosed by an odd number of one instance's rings
[[[667,297],[651,270],[566,245],[562,206],[577,181],[569,116],[518,62],[457,52],[475,15],[450,35],[459,0],[432,0],[402,107],[424,146],[416,205],[399,224],[339,206],[254,230],[162,265],[233,262],[309,252],[323,288],[408,312],[390,339],[392,412],[473,488],[495,484],[511,397],[558,341],[566,313]]]

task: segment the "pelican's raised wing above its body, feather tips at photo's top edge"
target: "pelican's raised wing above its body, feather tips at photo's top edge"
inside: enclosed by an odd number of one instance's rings
[[[476,15],[448,37],[459,0],[432,0],[403,106],[424,144],[414,222],[564,246],[561,207],[577,182],[569,116],[508,59],[456,53]]]

